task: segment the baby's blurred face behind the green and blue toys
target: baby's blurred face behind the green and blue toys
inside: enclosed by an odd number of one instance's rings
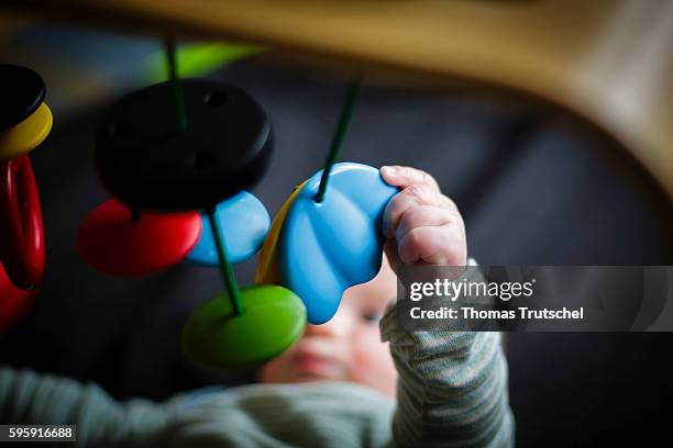
[[[261,370],[263,382],[351,381],[395,395],[397,371],[380,341],[378,321],[396,294],[384,256],[380,272],[346,290],[332,320],[308,325],[301,339]]]

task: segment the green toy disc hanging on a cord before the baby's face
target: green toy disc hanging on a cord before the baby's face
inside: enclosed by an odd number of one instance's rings
[[[197,307],[183,329],[195,362],[218,368],[262,363],[293,345],[306,327],[306,307],[290,290],[271,284],[241,289],[245,313],[233,313],[222,292]]]

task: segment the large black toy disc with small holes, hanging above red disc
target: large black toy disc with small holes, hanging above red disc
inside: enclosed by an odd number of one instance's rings
[[[250,189],[273,147],[262,107],[240,89],[181,80],[187,130],[179,132],[170,82],[118,102],[98,134],[96,159],[108,189],[141,209],[199,210]]]

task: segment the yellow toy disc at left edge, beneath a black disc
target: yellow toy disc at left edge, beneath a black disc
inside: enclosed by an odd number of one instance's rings
[[[52,111],[46,103],[27,119],[10,127],[0,131],[0,159],[11,159],[35,149],[52,131]]]

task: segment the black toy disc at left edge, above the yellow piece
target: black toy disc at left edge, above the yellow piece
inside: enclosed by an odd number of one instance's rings
[[[0,64],[0,131],[12,127],[37,110],[46,88],[40,75],[30,68]]]

